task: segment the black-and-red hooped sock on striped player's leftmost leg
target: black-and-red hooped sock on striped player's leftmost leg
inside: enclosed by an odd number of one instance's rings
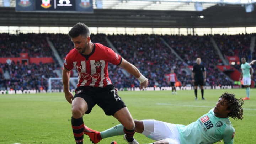
[[[71,117],[71,124],[73,129],[76,144],[83,144],[84,140],[84,121],[81,118],[75,119]]]

